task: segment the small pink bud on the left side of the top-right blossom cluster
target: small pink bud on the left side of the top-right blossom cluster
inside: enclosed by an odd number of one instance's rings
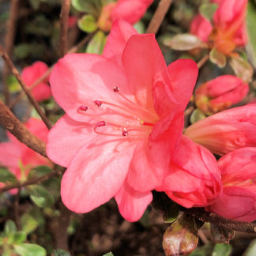
[[[209,35],[213,31],[212,24],[205,17],[198,14],[190,24],[191,34],[198,36],[203,42],[208,43]]]

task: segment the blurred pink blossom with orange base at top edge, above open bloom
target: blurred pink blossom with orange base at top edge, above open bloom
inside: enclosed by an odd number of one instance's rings
[[[134,24],[141,19],[152,2],[153,0],[119,0],[108,3],[101,11],[98,26],[108,32],[118,20]]]

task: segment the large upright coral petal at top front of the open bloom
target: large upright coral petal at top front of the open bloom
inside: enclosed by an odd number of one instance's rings
[[[155,107],[159,115],[167,115],[171,111],[169,103],[175,102],[175,99],[155,36],[131,36],[124,48],[122,63],[137,103],[149,109]]]

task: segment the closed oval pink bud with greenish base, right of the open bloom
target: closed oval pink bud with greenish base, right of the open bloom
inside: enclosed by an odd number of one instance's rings
[[[249,85],[239,77],[224,75],[200,85],[194,92],[195,104],[206,115],[222,111],[243,100]]]

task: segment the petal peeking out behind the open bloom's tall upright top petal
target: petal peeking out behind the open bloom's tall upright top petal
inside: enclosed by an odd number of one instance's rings
[[[107,36],[107,43],[104,47],[104,57],[122,66],[122,51],[130,36],[136,35],[137,31],[132,25],[125,21],[115,21],[111,32]]]

